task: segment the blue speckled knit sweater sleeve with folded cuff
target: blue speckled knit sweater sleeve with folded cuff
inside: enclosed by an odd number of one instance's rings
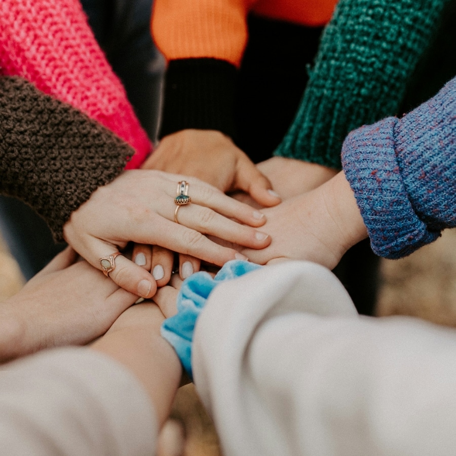
[[[350,133],[342,164],[377,255],[409,255],[455,227],[456,78],[402,119]]]

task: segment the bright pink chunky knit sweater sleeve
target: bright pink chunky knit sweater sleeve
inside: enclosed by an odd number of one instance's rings
[[[1,0],[0,74],[19,75],[85,112],[134,149],[137,168],[150,141],[90,29],[79,0]]]

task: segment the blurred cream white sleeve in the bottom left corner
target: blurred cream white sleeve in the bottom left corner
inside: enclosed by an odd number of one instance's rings
[[[0,368],[0,454],[155,454],[157,422],[124,367],[86,348],[44,351]]]

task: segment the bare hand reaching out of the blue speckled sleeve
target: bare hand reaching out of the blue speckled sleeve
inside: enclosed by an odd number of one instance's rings
[[[367,237],[356,200],[344,173],[318,188],[264,209],[269,247],[242,249],[251,261],[265,264],[279,259],[306,259],[333,269],[341,256]]]

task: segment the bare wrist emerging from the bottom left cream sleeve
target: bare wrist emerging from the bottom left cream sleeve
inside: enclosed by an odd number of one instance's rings
[[[136,377],[149,395],[161,425],[170,412],[182,367],[174,349],[160,335],[164,319],[160,309],[150,303],[142,306],[135,306],[136,323],[120,329],[114,326],[91,349],[115,359]]]

